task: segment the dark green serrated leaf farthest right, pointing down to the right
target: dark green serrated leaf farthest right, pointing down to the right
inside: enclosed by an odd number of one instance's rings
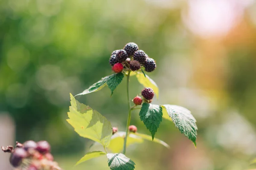
[[[171,120],[175,124],[175,127],[177,127],[181,133],[189,138],[196,147],[195,141],[198,127],[191,112],[188,109],[177,105],[161,105],[161,107],[163,108],[163,112],[167,112],[169,115],[168,119]],[[166,116],[164,118],[166,118]]]

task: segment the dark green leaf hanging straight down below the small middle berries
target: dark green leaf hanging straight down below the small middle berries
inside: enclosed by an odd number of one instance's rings
[[[163,109],[159,105],[152,105],[149,103],[143,103],[140,109],[140,120],[143,121],[144,125],[150,131],[152,140],[154,135],[162,122]]]

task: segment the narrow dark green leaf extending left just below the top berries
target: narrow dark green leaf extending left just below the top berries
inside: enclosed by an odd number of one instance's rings
[[[82,93],[77,94],[78,95],[84,95],[84,94],[89,94],[95,91],[99,91],[102,88],[105,87],[105,85],[108,85],[108,87],[111,90],[111,95],[113,94],[113,91],[116,89],[116,87],[120,84],[124,77],[124,74],[122,73],[117,73],[117,74],[112,74],[110,76],[103,77],[101,80],[98,82],[94,83],[91,85],[89,88],[84,90]]]

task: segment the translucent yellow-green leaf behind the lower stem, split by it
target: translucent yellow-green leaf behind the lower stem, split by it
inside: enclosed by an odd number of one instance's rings
[[[110,149],[114,153],[121,152],[124,146],[124,139],[125,139],[125,132],[117,132],[111,137],[111,142],[108,146],[108,149]],[[135,136],[133,133],[130,133],[128,135],[127,141],[126,141],[126,147],[128,147],[131,144],[135,143],[142,143],[143,139],[140,136]]]

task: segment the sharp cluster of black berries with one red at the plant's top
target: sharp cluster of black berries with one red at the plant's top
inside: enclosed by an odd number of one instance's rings
[[[129,42],[123,49],[112,52],[109,64],[113,67],[117,63],[121,63],[123,68],[131,69],[132,71],[145,67],[145,71],[152,72],[157,67],[154,59],[149,58],[143,50],[139,50],[138,45],[134,42]],[[112,68],[112,70],[117,73],[116,69]]]

